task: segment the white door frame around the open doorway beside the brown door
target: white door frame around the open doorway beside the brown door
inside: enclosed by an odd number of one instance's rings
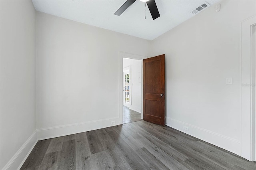
[[[119,56],[119,82],[120,82],[120,96],[119,96],[119,125],[123,124],[123,58],[130,58],[130,59],[138,59],[138,60],[143,60],[146,59],[147,56],[143,55],[136,55],[136,54],[131,54],[131,53],[125,53],[125,52],[120,52]],[[143,62],[141,62],[141,79],[143,80]],[[141,97],[143,98],[143,83],[141,83]],[[143,111],[143,100],[141,100],[141,111]],[[143,119],[143,114],[141,113],[141,119]]]

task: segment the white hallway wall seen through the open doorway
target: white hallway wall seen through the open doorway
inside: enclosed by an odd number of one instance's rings
[[[131,66],[132,102],[130,109],[141,113],[141,64],[142,60],[123,58],[123,67]]]

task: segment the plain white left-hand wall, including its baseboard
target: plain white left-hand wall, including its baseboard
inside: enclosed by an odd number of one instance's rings
[[[0,169],[16,169],[36,142],[36,11],[0,3]]]

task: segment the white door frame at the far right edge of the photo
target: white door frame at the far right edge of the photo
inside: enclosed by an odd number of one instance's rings
[[[241,25],[241,156],[255,161],[255,56],[252,55],[253,16]]]

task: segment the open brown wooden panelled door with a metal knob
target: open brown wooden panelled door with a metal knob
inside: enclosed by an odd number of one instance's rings
[[[165,125],[164,54],[143,60],[143,120]]]

